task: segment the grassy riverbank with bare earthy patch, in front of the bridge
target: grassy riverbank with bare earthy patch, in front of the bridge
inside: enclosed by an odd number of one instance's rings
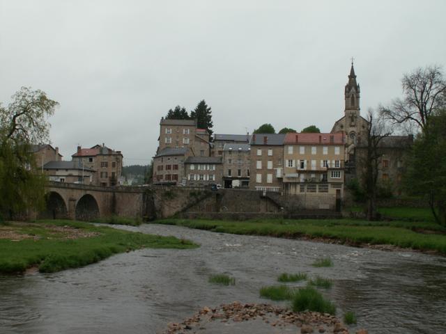
[[[0,224],[0,273],[20,273],[30,267],[61,271],[98,262],[139,248],[195,248],[190,241],[96,227],[77,221]]]

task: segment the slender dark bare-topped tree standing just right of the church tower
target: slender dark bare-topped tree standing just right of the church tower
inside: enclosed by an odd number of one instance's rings
[[[376,208],[376,196],[378,193],[378,171],[381,163],[381,142],[391,132],[387,129],[387,125],[383,118],[376,118],[373,111],[369,111],[367,116],[368,127],[364,143],[358,145],[358,159],[362,166],[362,188],[364,189],[367,202],[367,219],[369,221],[378,218],[378,210]]]

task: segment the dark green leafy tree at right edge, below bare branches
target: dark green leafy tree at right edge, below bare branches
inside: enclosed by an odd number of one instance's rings
[[[437,223],[446,225],[446,110],[429,118],[413,145],[404,175],[406,188],[426,196]]]

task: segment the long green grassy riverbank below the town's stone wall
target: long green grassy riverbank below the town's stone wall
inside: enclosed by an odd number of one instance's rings
[[[345,244],[387,244],[446,254],[446,229],[426,221],[361,221],[355,219],[265,219],[256,221],[210,221],[164,219],[155,223],[188,228],[284,238],[339,240]]]

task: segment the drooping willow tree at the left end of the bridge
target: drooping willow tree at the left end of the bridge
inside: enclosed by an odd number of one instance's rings
[[[43,206],[45,178],[36,173],[30,148],[49,141],[47,117],[57,105],[42,90],[26,87],[8,107],[0,105],[0,214]]]

